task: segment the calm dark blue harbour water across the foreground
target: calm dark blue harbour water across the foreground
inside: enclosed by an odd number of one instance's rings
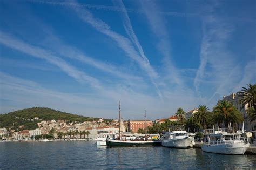
[[[255,169],[255,155],[201,149],[97,147],[92,141],[0,142],[0,169]]]

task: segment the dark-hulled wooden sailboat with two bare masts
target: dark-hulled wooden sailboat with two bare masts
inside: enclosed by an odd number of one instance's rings
[[[146,134],[146,111],[145,111],[145,134],[142,135],[120,135],[120,112],[121,103],[119,101],[119,133],[115,139],[107,137],[107,147],[136,147],[136,146],[161,146],[159,134]]]

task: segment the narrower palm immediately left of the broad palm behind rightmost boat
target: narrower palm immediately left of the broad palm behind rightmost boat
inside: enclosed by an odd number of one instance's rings
[[[209,108],[205,105],[198,106],[198,112],[194,113],[193,119],[206,129],[207,123],[211,120]]]

